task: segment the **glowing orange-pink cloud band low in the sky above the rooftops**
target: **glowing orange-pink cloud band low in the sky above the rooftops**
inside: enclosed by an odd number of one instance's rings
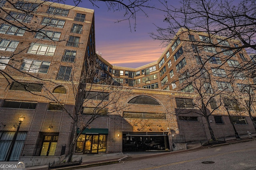
[[[165,48],[159,46],[159,41],[144,40],[136,42],[112,41],[103,45],[96,45],[97,51],[112,65],[126,66],[134,63],[133,68],[138,67],[136,63],[152,63],[157,61]],[[136,65],[136,66],[135,66]],[[131,66],[128,66],[131,67]]]

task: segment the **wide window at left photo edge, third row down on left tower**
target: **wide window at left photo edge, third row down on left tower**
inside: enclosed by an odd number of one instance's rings
[[[17,36],[23,36],[25,33],[25,27],[18,28],[13,25],[8,25],[2,23],[0,26],[0,33],[2,34],[10,34],[10,35],[17,35]]]

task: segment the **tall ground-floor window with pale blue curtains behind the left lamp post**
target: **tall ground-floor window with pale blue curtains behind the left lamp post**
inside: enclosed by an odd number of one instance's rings
[[[15,132],[12,131],[0,131],[0,161],[6,160],[6,156],[11,149],[11,143],[14,138]],[[26,139],[27,132],[18,132],[10,161],[17,161],[20,157],[24,141]]]

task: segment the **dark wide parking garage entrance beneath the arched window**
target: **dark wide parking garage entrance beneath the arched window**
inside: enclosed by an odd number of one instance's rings
[[[167,133],[123,133],[123,152],[170,150]]]

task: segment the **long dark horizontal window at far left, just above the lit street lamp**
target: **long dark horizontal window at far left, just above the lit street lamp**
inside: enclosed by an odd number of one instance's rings
[[[18,108],[18,109],[36,109],[37,102],[19,102],[19,101],[9,101],[4,100],[2,107],[8,108]]]

